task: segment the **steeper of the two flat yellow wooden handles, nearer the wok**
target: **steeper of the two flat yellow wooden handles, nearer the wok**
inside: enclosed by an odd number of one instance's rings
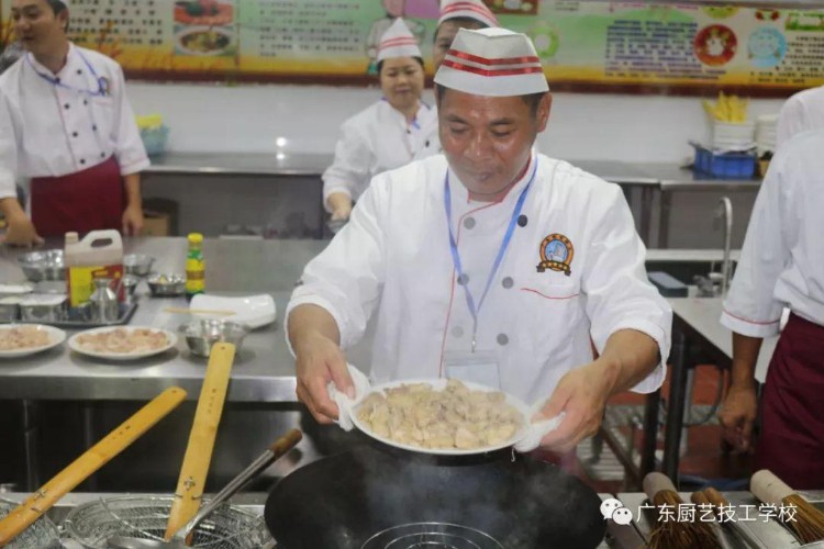
[[[212,347],[203,378],[203,388],[200,390],[198,407],[194,411],[189,444],[183,456],[183,464],[180,468],[175,501],[166,525],[164,536],[166,541],[186,526],[200,508],[234,357],[235,346],[232,344],[216,343]]]

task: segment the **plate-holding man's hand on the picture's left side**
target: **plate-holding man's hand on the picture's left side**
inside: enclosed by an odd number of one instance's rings
[[[337,404],[330,399],[326,385],[334,381],[338,391],[355,397],[355,384],[346,367],[346,357],[335,341],[323,335],[304,340],[294,349],[297,357],[298,399],[307,405],[318,423],[337,419]]]

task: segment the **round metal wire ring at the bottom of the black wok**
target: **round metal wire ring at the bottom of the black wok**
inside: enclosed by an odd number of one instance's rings
[[[361,549],[503,549],[503,546],[475,528],[446,523],[412,523],[376,534]]]

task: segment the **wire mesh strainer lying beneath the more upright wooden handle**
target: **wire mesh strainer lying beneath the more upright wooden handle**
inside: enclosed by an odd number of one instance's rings
[[[75,507],[65,528],[87,549],[105,549],[112,536],[162,540],[172,497],[120,496]],[[263,518],[230,505],[212,512],[194,529],[192,547],[257,549],[271,540]]]

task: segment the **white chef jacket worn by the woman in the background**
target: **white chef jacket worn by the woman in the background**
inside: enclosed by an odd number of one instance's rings
[[[335,160],[323,172],[323,204],[343,192],[357,201],[371,178],[439,152],[437,109],[421,102],[415,121],[381,99],[344,122]]]

